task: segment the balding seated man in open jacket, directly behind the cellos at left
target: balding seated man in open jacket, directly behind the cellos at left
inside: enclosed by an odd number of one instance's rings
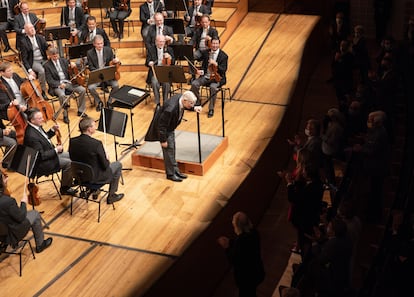
[[[23,66],[26,68],[29,79],[35,79],[36,73],[39,77],[40,86],[42,87],[42,96],[48,100],[46,95],[46,77],[43,64],[47,61],[46,51],[49,44],[43,35],[36,34],[32,24],[24,25],[26,37],[21,41],[20,52]]]

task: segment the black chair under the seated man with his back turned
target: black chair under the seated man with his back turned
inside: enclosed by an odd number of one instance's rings
[[[103,190],[102,187],[109,185],[109,181],[106,183],[94,183],[95,180],[94,172],[92,167],[89,164],[82,162],[71,162],[72,176],[77,184],[77,190],[79,194],[72,196],[70,200],[70,214],[73,213],[73,198],[81,198],[86,200],[86,202],[95,202],[98,203],[98,223],[101,219],[101,201],[105,198],[108,198],[109,191]],[[101,192],[104,192],[104,195],[100,195]],[[112,203],[112,208],[115,210],[115,205]]]

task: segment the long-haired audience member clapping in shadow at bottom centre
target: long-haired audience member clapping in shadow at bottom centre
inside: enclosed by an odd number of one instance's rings
[[[233,215],[232,225],[236,238],[221,236],[217,239],[233,266],[239,297],[256,296],[257,286],[264,280],[260,235],[244,212]]]

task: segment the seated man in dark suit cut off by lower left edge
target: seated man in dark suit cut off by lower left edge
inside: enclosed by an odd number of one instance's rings
[[[7,225],[9,228],[9,235],[7,242],[16,247],[18,242],[22,240],[29,229],[32,228],[33,236],[36,242],[36,252],[41,253],[48,248],[53,239],[51,237],[44,239],[42,222],[40,214],[37,210],[27,211],[27,195],[23,194],[20,200],[20,207],[14,198],[4,195],[4,189],[7,185],[7,178],[1,174],[0,178],[0,222]],[[7,246],[0,247],[6,248]]]

